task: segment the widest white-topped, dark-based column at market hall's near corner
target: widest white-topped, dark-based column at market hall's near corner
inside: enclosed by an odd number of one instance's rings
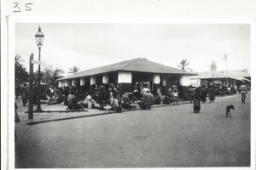
[[[126,92],[131,92],[131,71],[119,71],[118,73],[118,84],[120,94],[125,94]]]

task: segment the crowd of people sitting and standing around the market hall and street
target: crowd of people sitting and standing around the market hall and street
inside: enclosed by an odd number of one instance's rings
[[[239,87],[242,94],[242,103],[245,102],[247,89],[245,85]],[[38,100],[37,86],[33,88],[33,103],[36,105]],[[28,100],[28,87],[24,83],[21,88],[21,98],[23,106]],[[201,102],[205,103],[207,98],[210,103],[214,103],[218,94],[218,89],[210,84],[208,87],[203,85],[201,87],[189,86],[187,96],[190,103],[193,103],[193,110],[199,113],[201,110]],[[106,105],[111,105],[115,111],[122,111],[122,109],[132,109],[135,105],[143,110],[150,110],[152,105],[178,105],[179,90],[176,85],[170,88],[163,89],[160,86],[152,92],[148,88],[148,84],[144,84],[143,88],[136,89],[133,92],[120,94],[120,88],[114,84],[110,84],[108,88],[101,84],[96,90],[89,90],[80,93],[76,84],[69,87],[55,88],[49,86],[45,90],[45,98],[47,105],[67,105],[67,110],[84,110],[84,108],[98,108],[103,110]],[[98,103],[98,105],[96,105]]]

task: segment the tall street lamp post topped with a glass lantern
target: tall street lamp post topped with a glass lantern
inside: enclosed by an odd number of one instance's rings
[[[36,37],[36,41],[37,41],[37,45],[38,45],[38,60],[41,60],[41,47],[43,46],[43,42],[44,42],[44,34],[41,31],[41,28],[39,26],[38,28],[38,33],[35,35]],[[38,65],[38,106],[36,111],[40,112],[42,111],[41,109],[41,88],[40,88],[40,84],[41,84],[41,65],[39,63]]]

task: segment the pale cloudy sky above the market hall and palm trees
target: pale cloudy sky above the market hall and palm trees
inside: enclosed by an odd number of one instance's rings
[[[38,59],[38,26],[44,33],[41,60],[65,71],[63,76],[74,65],[84,71],[135,58],[176,68],[188,59],[196,72],[210,71],[215,60],[217,70],[226,71],[225,54],[229,71],[251,69],[248,24],[17,23],[15,55],[27,71],[30,54]]]

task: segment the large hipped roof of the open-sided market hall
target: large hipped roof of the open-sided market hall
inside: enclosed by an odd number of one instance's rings
[[[161,65],[148,59],[137,58],[131,60],[124,60],[119,63],[112,65],[105,65],[94,69],[78,72],[77,74],[70,75],[68,77],[62,77],[58,79],[67,80],[78,77],[89,77],[98,74],[104,74],[113,71],[137,71],[137,72],[148,72],[148,73],[159,73],[159,74],[180,74],[180,75],[196,75],[193,72],[183,71],[181,69],[173,68],[167,65]]]

